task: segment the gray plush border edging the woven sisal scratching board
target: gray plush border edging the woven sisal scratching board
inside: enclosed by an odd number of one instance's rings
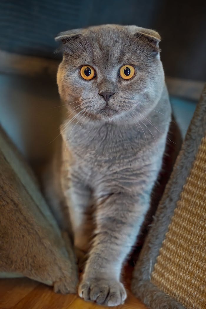
[[[178,302],[174,307],[171,307],[171,303],[174,305],[174,300],[154,287],[150,283],[150,277],[173,217],[176,203],[189,176],[201,139],[205,134],[206,84],[133,272],[132,292],[151,308],[183,308]],[[156,289],[155,293],[154,289]]]

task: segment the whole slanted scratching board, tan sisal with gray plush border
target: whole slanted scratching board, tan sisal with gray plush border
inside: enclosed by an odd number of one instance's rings
[[[132,279],[152,309],[206,308],[206,85]]]

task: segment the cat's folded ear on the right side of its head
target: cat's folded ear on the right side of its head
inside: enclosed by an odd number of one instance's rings
[[[159,49],[159,42],[161,41],[161,37],[158,32],[152,29],[141,28],[137,26],[128,26],[128,30],[133,34],[137,39],[144,41],[151,45],[154,48],[154,52],[158,53]]]

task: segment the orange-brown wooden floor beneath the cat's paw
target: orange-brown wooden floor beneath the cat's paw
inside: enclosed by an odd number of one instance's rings
[[[130,277],[130,276],[129,276]],[[129,279],[125,279],[129,285]],[[124,280],[124,281],[125,281]],[[0,279],[0,309],[103,309],[108,308],[85,302],[77,295],[55,294],[53,288],[27,278]],[[128,291],[124,305],[116,309],[146,309]]]

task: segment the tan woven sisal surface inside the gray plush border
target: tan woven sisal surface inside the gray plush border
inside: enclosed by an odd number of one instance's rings
[[[177,202],[151,282],[188,309],[206,308],[206,136]]]

